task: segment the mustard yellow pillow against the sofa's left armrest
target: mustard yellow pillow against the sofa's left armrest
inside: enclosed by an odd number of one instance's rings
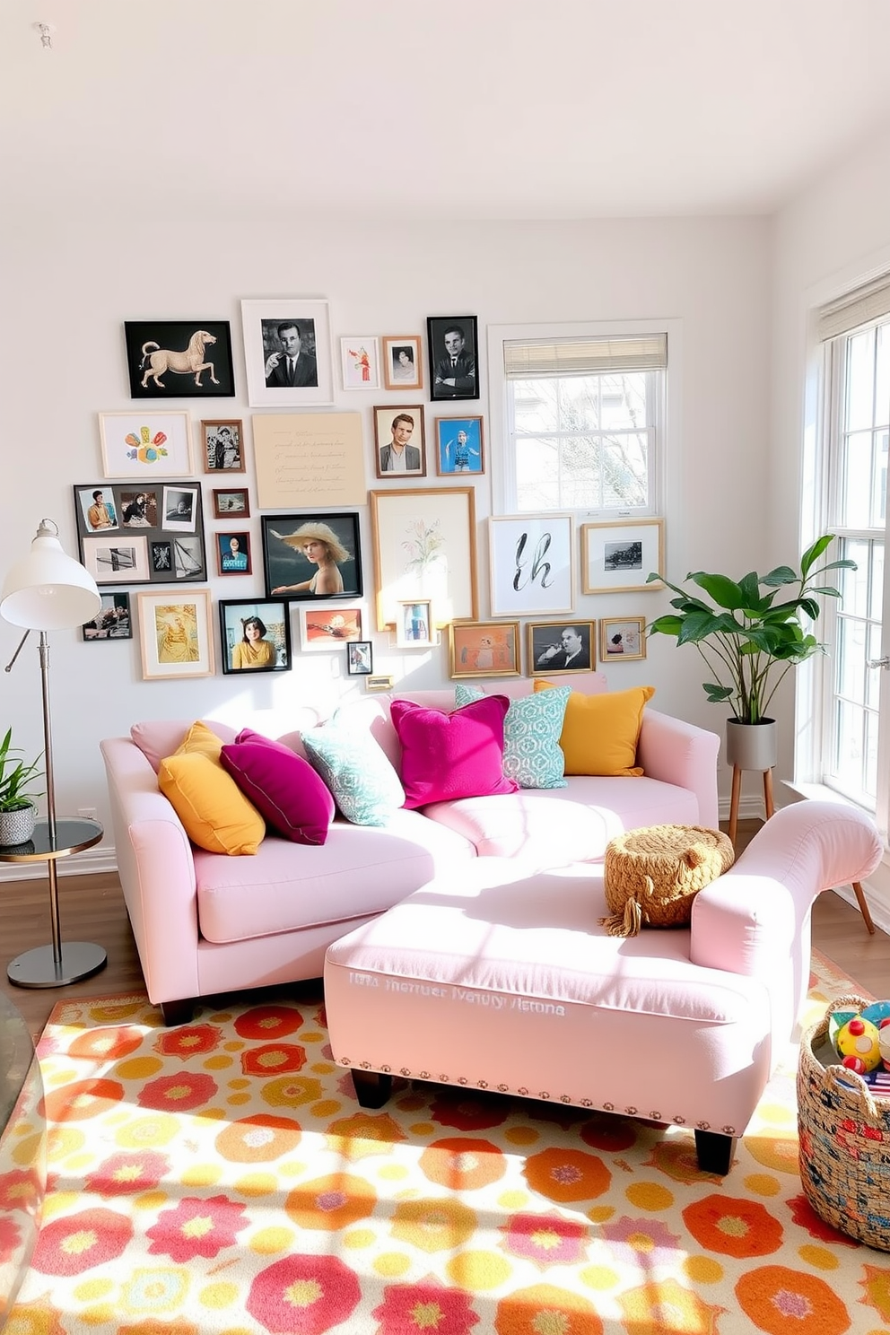
[[[176,752],[160,762],[157,785],[192,844],[208,853],[255,853],[266,821],[219,761]]]

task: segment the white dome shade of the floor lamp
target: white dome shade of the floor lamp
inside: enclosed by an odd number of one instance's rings
[[[53,521],[41,519],[31,551],[3,582],[0,615],[28,630],[67,630],[91,621],[100,607],[96,581],[65,555]]]

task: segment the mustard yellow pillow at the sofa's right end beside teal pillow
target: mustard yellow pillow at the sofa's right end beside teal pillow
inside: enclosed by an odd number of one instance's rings
[[[535,690],[552,690],[555,682],[536,681]],[[636,742],[646,701],[654,686],[631,686],[600,696],[572,690],[566,705],[559,745],[567,774],[642,774]]]

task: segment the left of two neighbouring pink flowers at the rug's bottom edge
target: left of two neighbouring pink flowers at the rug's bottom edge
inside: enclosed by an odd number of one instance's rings
[[[360,1296],[358,1279],[336,1256],[286,1256],[255,1276],[246,1307],[272,1335],[323,1335]]]

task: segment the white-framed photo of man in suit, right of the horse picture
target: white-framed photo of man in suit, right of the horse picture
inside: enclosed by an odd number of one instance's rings
[[[302,296],[242,302],[247,400],[256,409],[334,403],[331,314]]]

